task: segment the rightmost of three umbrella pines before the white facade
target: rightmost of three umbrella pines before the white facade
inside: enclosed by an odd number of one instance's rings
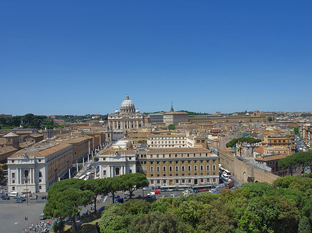
[[[123,191],[128,190],[130,192],[130,199],[132,198],[132,193],[135,189],[146,187],[149,184],[146,176],[141,173],[128,173],[120,176],[119,178],[121,179],[121,189]]]

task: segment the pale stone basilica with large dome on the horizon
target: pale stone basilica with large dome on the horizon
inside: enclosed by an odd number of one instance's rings
[[[108,115],[108,127],[114,131],[124,129],[137,129],[144,125],[144,114],[135,110],[135,104],[130,100],[129,95],[121,103],[120,111]]]

